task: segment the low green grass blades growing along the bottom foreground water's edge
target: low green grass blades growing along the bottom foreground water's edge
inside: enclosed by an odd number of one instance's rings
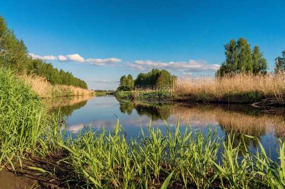
[[[180,124],[167,133],[149,126],[141,137],[126,140],[119,121],[113,131],[83,128],[68,145],[68,163],[77,178],[91,188],[159,188],[171,175],[168,185],[210,188],[283,188],[285,144],[280,141],[279,162],[233,147],[217,130],[181,132]],[[251,137],[251,136],[246,136]],[[242,156],[238,156],[241,153]],[[218,155],[221,158],[218,158]],[[168,177],[169,178],[169,177]],[[167,181],[168,182],[168,181]]]

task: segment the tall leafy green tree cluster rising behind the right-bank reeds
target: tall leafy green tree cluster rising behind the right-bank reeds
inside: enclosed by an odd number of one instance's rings
[[[232,39],[224,47],[226,60],[216,72],[217,77],[244,72],[254,74],[267,73],[267,61],[263,58],[263,54],[258,46],[255,46],[252,51],[251,45],[247,43],[247,40],[240,37],[237,42]]]

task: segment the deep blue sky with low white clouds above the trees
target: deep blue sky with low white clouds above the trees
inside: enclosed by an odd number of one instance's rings
[[[285,49],[284,10],[285,1],[0,2],[31,56],[72,72],[89,89],[115,89],[122,74],[136,78],[155,67],[215,73],[223,46],[239,37],[258,45],[273,70]]]

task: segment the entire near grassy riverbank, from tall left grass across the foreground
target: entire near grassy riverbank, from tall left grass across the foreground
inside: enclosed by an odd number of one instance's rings
[[[83,128],[72,139],[65,136],[60,116],[48,115],[40,96],[29,86],[4,69],[0,70],[0,82],[1,173],[14,169],[19,172],[17,169],[22,167],[30,174],[37,172],[50,178],[40,183],[33,175],[34,185],[26,185],[28,188],[47,188],[51,184],[65,188],[285,186],[282,141],[276,162],[261,145],[259,152],[251,153],[233,147],[232,135],[222,139],[215,128],[203,132],[191,130],[189,125],[182,131],[180,121],[173,127],[165,123],[166,133],[150,124],[147,133],[141,130],[140,137],[129,140],[119,121],[113,131]],[[35,163],[40,159],[52,164]],[[64,179],[59,175],[65,175]],[[5,184],[7,180],[1,176]],[[16,174],[14,177],[18,178]]]

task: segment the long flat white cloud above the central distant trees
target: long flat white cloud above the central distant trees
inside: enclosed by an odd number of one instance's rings
[[[153,68],[167,69],[169,71],[179,71],[179,72],[207,72],[207,71],[217,71],[220,68],[218,64],[209,64],[204,60],[189,60],[189,62],[168,62],[164,63],[161,61],[151,61],[151,60],[136,60],[134,62],[125,62],[126,67],[133,71],[150,71]]]

